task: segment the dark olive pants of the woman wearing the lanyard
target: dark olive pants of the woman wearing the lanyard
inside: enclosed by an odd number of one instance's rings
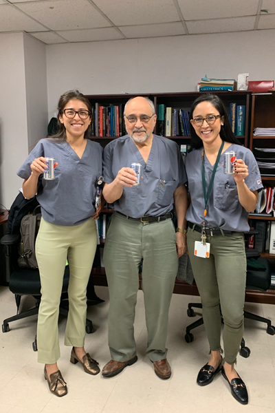
[[[194,255],[201,233],[188,228],[187,245],[192,271],[201,296],[203,322],[210,350],[221,349],[221,314],[224,321],[224,361],[236,362],[243,337],[246,257],[243,233],[208,236],[210,257]],[[221,311],[220,311],[221,306]]]

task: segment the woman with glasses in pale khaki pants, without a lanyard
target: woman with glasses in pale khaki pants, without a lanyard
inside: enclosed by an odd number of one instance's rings
[[[98,218],[96,182],[102,174],[102,147],[87,139],[91,123],[89,100],[80,92],[63,94],[58,103],[59,131],[40,140],[18,171],[23,195],[37,193],[42,220],[36,238],[41,277],[41,304],[37,326],[38,361],[45,363],[50,391],[65,396],[67,386],[58,370],[58,313],[66,261],[69,262],[69,315],[65,346],[72,346],[71,362],[98,374],[98,363],[85,352],[86,290],[96,253]],[[45,158],[54,158],[54,179],[43,179]]]

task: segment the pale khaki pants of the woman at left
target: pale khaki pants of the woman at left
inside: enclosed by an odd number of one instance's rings
[[[93,218],[77,226],[60,226],[41,220],[36,237],[36,260],[42,294],[37,325],[39,363],[54,364],[60,357],[58,314],[67,259],[69,314],[65,346],[84,346],[86,290],[96,244],[96,222]]]

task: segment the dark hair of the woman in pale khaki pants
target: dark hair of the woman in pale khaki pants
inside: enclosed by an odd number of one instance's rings
[[[63,142],[64,140],[66,140],[67,135],[66,135],[66,128],[63,125],[63,123],[61,123],[59,116],[63,115],[63,110],[64,107],[67,105],[67,103],[69,102],[69,100],[81,100],[83,103],[85,103],[85,105],[87,106],[87,109],[89,110],[89,117],[93,118],[93,114],[92,114],[92,109],[91,109],[91,105],[89,103],[89,100],[87,98],[85,98],[85,96],[78,92],[78,90],[69,90],[69,92],[65,92],[59,99],[58,102],[58,115],[57,115],[57,126],[58,126],[58,131],[56,132],[56,134],[52,135],[52,136],[47,136],[47,138],[49,139],[54,139],[57,140],[58,142]],[[84,138],[87,139],[87,137],[89,136],[89,129],[90,129],[90,125],[89,127],[87,127],[87,130],[85,131],[84,134]]]

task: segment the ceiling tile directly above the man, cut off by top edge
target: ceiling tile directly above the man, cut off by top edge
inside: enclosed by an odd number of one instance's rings
[[[179,21],[179,14],[173,0],[93,1],[115,25]]]

